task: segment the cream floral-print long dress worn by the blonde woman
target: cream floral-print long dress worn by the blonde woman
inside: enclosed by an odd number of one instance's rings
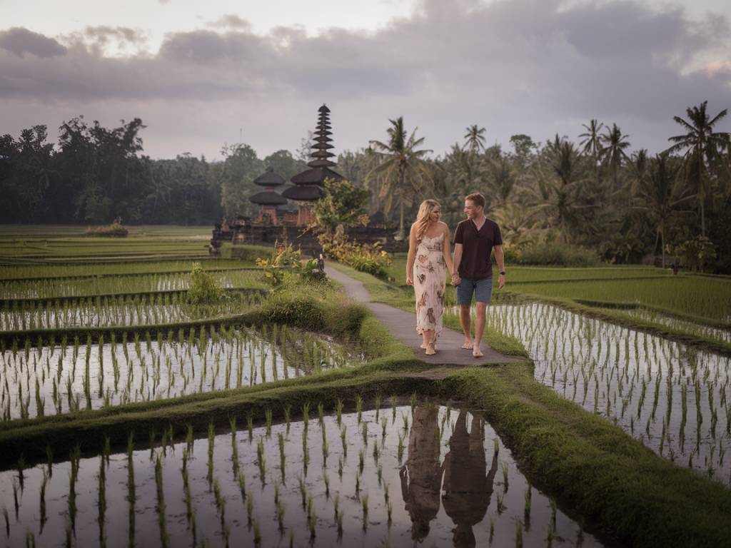
[[[447,263],[444,262],[444,232],[439,236],[424,236],[416,250],[412,272],[416,293],[416,330],[421,334],[433,330],[442,332],[444,288]]]

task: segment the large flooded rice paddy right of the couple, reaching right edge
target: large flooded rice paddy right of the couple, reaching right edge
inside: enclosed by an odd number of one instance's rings
[[[537,380],[731,484],[730,358],[541,303],[492,305],[487,324],[526,346]]]

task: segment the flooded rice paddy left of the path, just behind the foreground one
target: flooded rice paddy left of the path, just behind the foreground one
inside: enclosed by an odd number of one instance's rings
[[[212,329],[212,328],[211,328]],[[355,365],[345,346],[286,326],[61,340],[0,351],[3,420],[248,387]]]

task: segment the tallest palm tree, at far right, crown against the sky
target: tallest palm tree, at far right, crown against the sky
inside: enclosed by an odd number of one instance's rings
[[[673,120],[683,126],[686,134],[675,135],[668,140],[674,144],[667,149],[669,152],[685,150],[683,164],[686,170],[686,180],[695,179],[698,202],[700,205],[700,232],[705,236],[705,197],[708,194],[708,176],[705,162],[711,161],[726,145],[729,134],[727,132],[713,132],[713,126],[726,117],[728,110],[721,110],[712,120],[709,119],[705,108],[708,101],[698,107],[686,109],[688,121],[680,116],[673,116]]]

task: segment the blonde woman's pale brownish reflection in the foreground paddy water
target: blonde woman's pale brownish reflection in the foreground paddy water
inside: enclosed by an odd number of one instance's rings
[[[429,534],[429,522],[439,512],[442,470],[439,467],[438,417],[436,406],[416,408],[409,433],[409,458],[399,474],[401,494],[413,523],[412,539],[416,540]]]

